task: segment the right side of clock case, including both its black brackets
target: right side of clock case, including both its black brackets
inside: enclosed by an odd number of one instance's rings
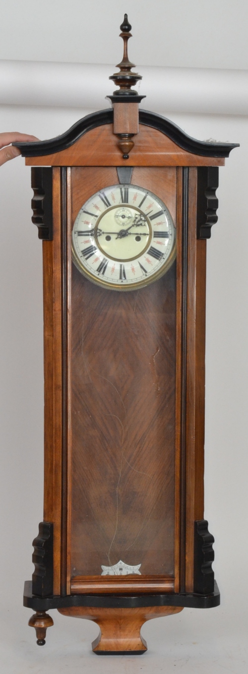
[[[214,537],[204,520],[206,239],[217,221],[218,168],[187,171],[187,362],[185,425],[185,592],[214,592]],[[211,206],[211,208],[210,208]]]

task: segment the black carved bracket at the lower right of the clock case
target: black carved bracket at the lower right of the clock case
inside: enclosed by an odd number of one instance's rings
[[[194,592],[210,594],[214,592],[214,537],[208,531],[207,520],[195,522],[194,549]]]

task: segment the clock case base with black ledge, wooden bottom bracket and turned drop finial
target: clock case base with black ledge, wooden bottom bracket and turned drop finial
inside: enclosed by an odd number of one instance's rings
[[[166,594],[139,594],[123,596],[117,594],[70,594],[67,596],[47,596],[32,594],[32,581],[24,585],[24,606],[36,613],[29,625],[35,627],[37,644],[45,643],[46,627],[53,620],[46,611],[57,609],[62,615],[93,620],[100,627],[100,633],[92,642],[96,655],[142,655],[147,644],[140,634],[142,625],[150,619],[174,615],[184,607],[210,609],[220,604],[220,592],[216,581],[212,594],[178,592]],[[45,629],[40,640],[40,619]]]

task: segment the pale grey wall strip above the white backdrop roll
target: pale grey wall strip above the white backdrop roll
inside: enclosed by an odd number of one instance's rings
[[[1,0],[0,59],[248,68],[245,0]]]

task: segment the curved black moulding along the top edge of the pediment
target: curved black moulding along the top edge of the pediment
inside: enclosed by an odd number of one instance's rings
[[[119,99],[118,99],[119,100]],[[154,129],[158,129],[168,138],[171,138],[180,148],[191,152],[192,154],[199,154],[203,157],[228,157],[230,150],[238,148],[239,144],[230,143],[206,143],[202,140],[195,140],[187,133],[184,133],[176,124],[173,124],[166,117],[150,113],[147,110],[140,110],[140,124],[145,124]],[[66,150],[73,143],[75,143],[84,133],[101,126],[102,124],[113,123],[113,109],[100,110],[92,115],[86,115],[73,126],[65,131],[57,138],[51,140],[38,141],[36,143],[13,143],[17,148],[20,148],[23,157],[39,157],[46,154],[54,154]]]

